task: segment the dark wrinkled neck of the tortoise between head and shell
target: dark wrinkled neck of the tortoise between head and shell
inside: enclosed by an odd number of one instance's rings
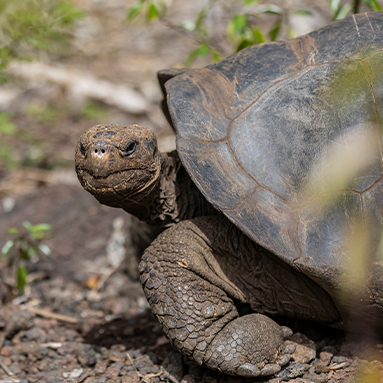
[[[158,179],[144,191],[122,201],[119,207],[148,224],[161,227],[218,214],[194,185],[176,152],[161,153]]]

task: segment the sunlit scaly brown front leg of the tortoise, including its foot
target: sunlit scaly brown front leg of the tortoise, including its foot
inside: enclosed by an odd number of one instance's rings
[[[225,273],[230,251],[220,249],[238,246],[227,242],[232,230],[221,216],[166,230],[142,257],[141,282],[163,331],[183,354],[232,375],[271,375],[290,359],[283,351],[286,332],[265,315],[238,316],[233,299],[246,302],[245,294]]]

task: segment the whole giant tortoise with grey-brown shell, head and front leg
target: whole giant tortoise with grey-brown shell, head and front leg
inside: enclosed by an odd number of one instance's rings
[[[290,359],[275,314],[381,332],[383,12],[159,79],[177,151],[141,125],[97,125],[76,171],[99,202],[166,229],[139,270],[174,346],[253,377]]]

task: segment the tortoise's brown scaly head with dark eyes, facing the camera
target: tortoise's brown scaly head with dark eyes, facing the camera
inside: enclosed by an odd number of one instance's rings
[[[96,125],[80,137],[77,177],[101,203],[129,211],[157,184],[161,155],[154,133],[142,125]]]

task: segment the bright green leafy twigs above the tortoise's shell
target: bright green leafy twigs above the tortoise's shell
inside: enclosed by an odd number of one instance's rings
[[[226,23],[226,34],[222,39],[228,41],[231,53],[238,52],[250,45],[281,38],[285,36],[295,37],[289,28],[289,16],[310,15],[309,9],[282,9],[275,4],[258,4],[259,0],[207,0],[201,7],[194,20],[184,20],[180,24],[174,24],[169,17],[171,1],[161,0],[138,0],[127,13],[127,20],[144,18],[147,22],[158,20],[164,25],[189,35],[193,38],[197,47],[190,52],[186,59],[186,66],[190,66],[197,58],[210,56],[211,61],[218,61],[226,55],[221,49],[217,38],[212,37],[211,25],[208,20],[216,13],[221,15],[223,23]],[[363,0],[363,5],[372,11],[380,11],[382,7],[378,0]],[[329,0],[329,13],[334,20],[346,17],[351,12],[358,12],[360,0]],[[260,21],[266,14],[274,15],[274,23],[267,30],[262,30]]]

